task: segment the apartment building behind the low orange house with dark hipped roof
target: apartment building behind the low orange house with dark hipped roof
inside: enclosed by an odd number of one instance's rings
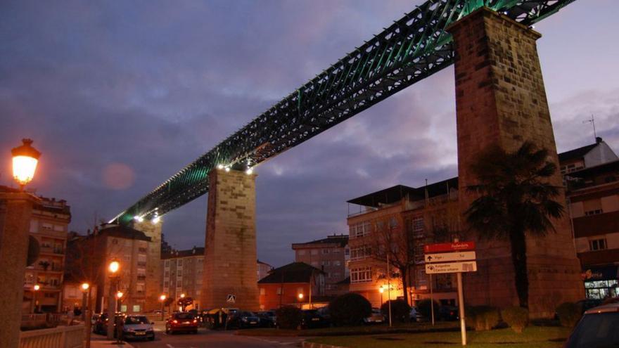
[[[307,243],[293,243],[295,262],[304,262],[324,271],[325,292],[337,292],[338,283],[349,276],[347,261],[350,258],[348,236],[327,236]]]

